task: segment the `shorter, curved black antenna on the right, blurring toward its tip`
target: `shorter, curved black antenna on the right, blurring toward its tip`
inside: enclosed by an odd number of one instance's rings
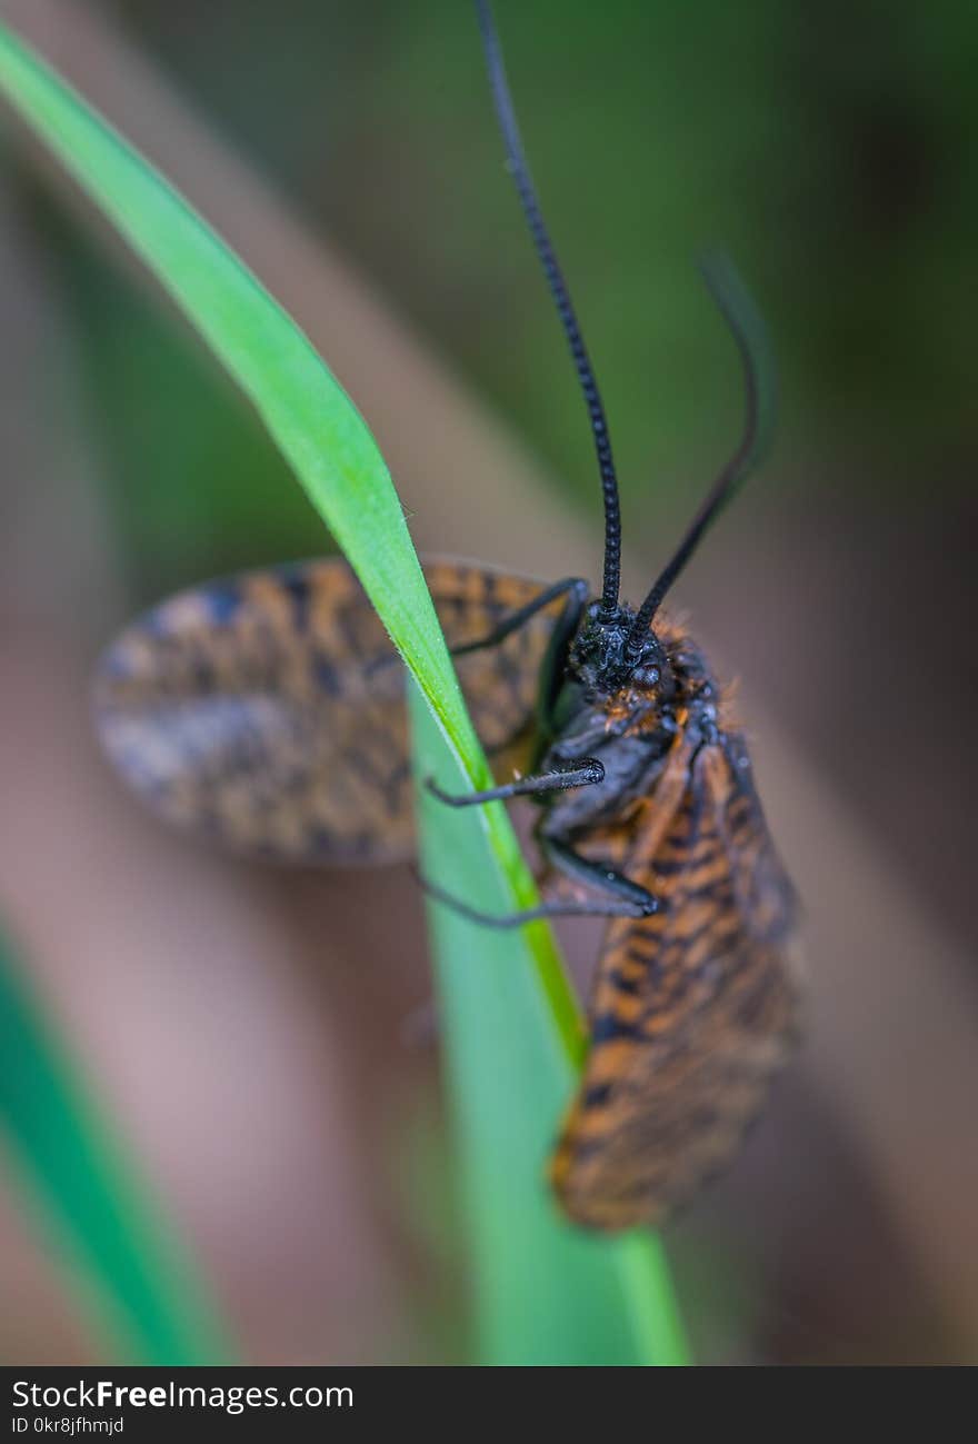
[[[641,651],[653,617],[666,592],[699,546],[706,527],[715,521],[727,503],[737,494],[741,482],[761,462],[774,417],[774,364],[760,312],[728,256],[718,253],[704,257],[699,269],[740,352],[745,391],[744,430],[737,451],[709,488],[689,530],[639,608],[627,643],[627,650],[633,657]]]

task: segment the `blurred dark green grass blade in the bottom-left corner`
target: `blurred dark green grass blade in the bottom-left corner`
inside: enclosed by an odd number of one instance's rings
[[[0,1136],[101,1317],[113,1362],[231,1362],[189,1261],[127,1168],[1,934]]]

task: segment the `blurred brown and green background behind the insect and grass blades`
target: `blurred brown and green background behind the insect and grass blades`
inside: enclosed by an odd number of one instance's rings
[[[311,334],[419,546],[595,576],[584,407],[467,0],[0,16]],[[608,407],[633,596],[738,425],[704,245],[734,254],[780,360],[776,451],[676,598],[741,679],[810,972],[797,1066],[669,1233],[698,1356],[974,1362],[972,7],[497,0],[497,20]],[[464,1362],[438,1050],[403,1030],[428,996],[410,877],[269,874],[173,838],[88,722],[92,661],[136,609],[329,540],[7,117],[0,160],[0,914],[244,1357]],[[594,934],[563,939],[584,982]],[[4,1362],[103,1356],[12,1170],[0,1289]]]

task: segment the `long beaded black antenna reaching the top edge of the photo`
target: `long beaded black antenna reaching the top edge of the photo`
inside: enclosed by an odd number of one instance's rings
[[[530,178],[530,168],[527,166],[526,155],[523,152],[523,142],[520,140],[520,130],[516,123],[516,111],[513,110],[513,100],[506,79],[503,52],[500,49],[500,40],[496,33],[496,25],[488,0],[475,0],[475,12],[478,14],[480,30],[482,32],[482,48],[485,51],[485,65],[488,68],[493,101],[496,103],[496,114],[498,117],[503,142],[506,144],[507,168],[516,182],[516,191],[520,198],[520,205],[523,206],[523,215],[526,217],[526,224],[530,228],[536,254],[540,257],[543,274],[546,276],[546,283],[550,287],[550,295],[553,296],[558,316],[561,318],[561,325],[563,326],[563,334],[568,338],[571,355],[574,357],[574,365],[578,373],[578,381],[581,383],[584,400],[588,407],[588,416],[591,419],[594,449],[598,455],[598,471],[601,472],[601,494],[604,498],[604,580],[601,585],[601,612],[604,617],[611,617],[618,605],[618,588],[621,583],[621,507],[618,503],[618,479],[615,477],[614,459],[611,455],[608,422],[604,414],[598,384],[594,378],[594,371],[591,370],[591,361],[588,360],[578,318],[574,312],[574,306],[571,305],[566,282],[563,280],[561,266],[558,264],[553,243],[550,241],[550,235],[543,221],[540,202]]]

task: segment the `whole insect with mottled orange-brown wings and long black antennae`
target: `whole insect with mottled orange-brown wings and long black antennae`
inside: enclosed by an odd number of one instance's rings
[[[533,917],[610,918],[591,1050],[550,1164],[592,1229],[662,1223],[734,1152],[784,1061],[796,1014],[792,887],[771,845],[728,696],[660,605],[761,451],[760,325],[728,266],[706,280],[737,341],[740,445],[637,609],[620,599],[621,526],[608,426],[545,227],[491,12],[477,0],[509,168],[566,334],[604,498],[601,595],[448,560],[435,606],[497,777],[446,806],[530,797],[558,892]],[[403,673],[341,560],[214,582],[156,606],[105,653],[105,749],[165,819],[243,853],[386,862],[412,851]]]

